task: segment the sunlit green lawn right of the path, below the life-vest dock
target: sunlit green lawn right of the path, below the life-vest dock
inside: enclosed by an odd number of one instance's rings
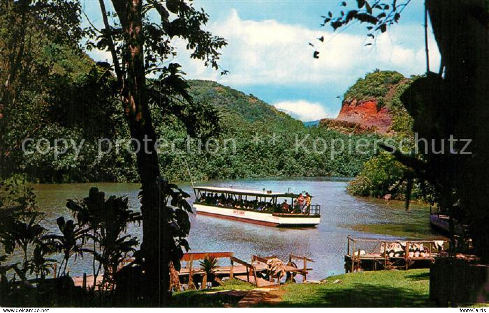
[[[333,284],[336,279],[343,282]],[[426,307],[429,270],[367,271],[328,277],[325,284],[287,284],[283,307]]]

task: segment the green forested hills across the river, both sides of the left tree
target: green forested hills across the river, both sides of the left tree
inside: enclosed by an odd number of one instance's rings
[[[32,83],[16,85],[15,106],[1,113],[9,127],[0,136],[2,175],[41,183],[137,181],[108,64],[95,63],[74,43],[48,40],[29,47],[34,65],[24,67],[23,75]],[[180,120],[159,105],[151,107],[162,141],[160,167],[170,180],[188,181],[189,171],[194,180],[355,176],[374,153],[378,135],[306,127],[253,95],[210,81],[188,85],[194,102],[218,112],[221,131],[189,140]],[[206,117],[199,119],[205,123]],[[30,140],[27,153],[24,139]],[[370,148],[357,151],[358,140]]]

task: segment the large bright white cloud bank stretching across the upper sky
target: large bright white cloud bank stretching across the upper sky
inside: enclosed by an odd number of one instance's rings
[[[229,74],[221,77],[211,69],[204,69],[198,60],[188,61],[184,53],[177,61],[184,65],[189,77],[215,80],[232,86],[243,85],[297,85],[325,84],[342,80],[354,82],[366,71],[375,68],[400,71],[408,76],[424,72],[423,39],[413,48],[399,42],[413,38],[409,27],[397,25],[388,35],[379,36],[373,46],[365,46],[365,34],[333,33],[324,29],[309,29],[302,25],[280,23],[275,20],[243,20],[236,10],[224,21],[210,25],[211,31],[227,39],[222,49],[222,67]],[[315,40],[324,36],[325,41]],[[411,38],[410,38],[411,36]],[[312,58],[314,48],[308,42],[320,43],[316,47],[319,59]],[[432,38],[431,63],[440,57]],[[343,92],[343,91],[341,91]]]

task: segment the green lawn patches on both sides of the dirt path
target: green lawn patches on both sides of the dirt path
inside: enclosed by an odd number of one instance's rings
[[[336,279],[343,282],[333,284]],[[324,284],[286,284],[281,287],[280,307],[426,307],[429,270],[368,271],[328,277]],[[173,299],[175,307],[235,306],[242,296],[229,290],[251,290],[255,287],[238,281],[203,291],[179,292]],[[265,305],[265,304],[264,304]],[[268,305],[268,304],[267,304]]]

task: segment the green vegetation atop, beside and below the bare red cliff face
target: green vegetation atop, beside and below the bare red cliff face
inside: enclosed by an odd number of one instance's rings
[[[391,147],[411,151],[414,147],[412,118],[404,108],[400,96],[417,77],[405,78],[398,72],[375,70],[360,78],[345,93],[345,101],[374,100],[378,106],[387,107],[392,115],[390,138]],[[396,161],[391,154],[380,151],[368,160],[352,181],[348,190],[357,196],[383,197],[391,194],[393,198],[404,199],[406,192],[405,173],[407,167]],[[425,199],[419,184],[412,189],[412,199]],[[411,187],[412,188],[412,187]]]

